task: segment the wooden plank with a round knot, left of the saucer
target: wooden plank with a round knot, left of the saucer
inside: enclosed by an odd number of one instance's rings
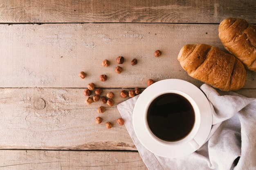
[[[103,96],[115,94],[115,105],[103,105],[106,112],[99,114],[101,102],[85,105],[83,89],[0,89],[0,149],[136,150],[126,127],[115,122],[121,117],[116,105],[128,99],[121,90],[103,89]],[[256,97],[256,89],[238,93]],[[94,122],[97,116],[101,124]]]

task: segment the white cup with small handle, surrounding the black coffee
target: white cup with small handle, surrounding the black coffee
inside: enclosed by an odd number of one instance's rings
[[[175,142],[164,141],[164,140],[158,138],[157,136],[155,136],[153,134],[153,132],[150,130],[150,128],[148,126],[148,122],[147,122],[148,107],[150,106],[151,102],[153,102],[153,100],[155,100],[155,98],[157,98],[158,96],[160,96],[162,94],[167,94],[167,93],[179,94],[179,95],[183,96],[184,98],[186,98],[191,103],[193,110],[194,110],[194,114],[195,114],[195,122],[194,122],[194,125],[193,125],[191,131],[189,132],[189,134]],[[196,104],[195,100],[193,100],[193,98],[191,98],[191,96],[189,96],[188,94],[178,91],[178,90],[167,90],[164,92],[159,92],[158,94],[155,94],[152,96],[153,97],[149,100],[147,106],[145,107],[145,111],[144,111],[144,125],[146,126],[146,131],[148,132],[148,134],[155,141],[157,141],[161,144],[167,145],[167,146],[177,146],[177,145],[183,145],[183,144],[189,143],[193,148],[197,149],[199,147],[199,145],[197,142],[195,142],[194,137],[198,133],[200,123],[201,123],[201,116],[200,116],[200,110],[199,110],[198,105]]]

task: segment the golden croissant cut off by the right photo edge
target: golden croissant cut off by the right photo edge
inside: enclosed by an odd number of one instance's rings
[[[256,72],[256,26],[239,18],[227,18],[219,25],[223,46],[249,70]]]

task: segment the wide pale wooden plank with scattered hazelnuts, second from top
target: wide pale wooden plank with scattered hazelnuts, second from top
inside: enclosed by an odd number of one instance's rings
[[[146,87],[148,78],[200,86],[177,61],[180,49],[195,43],[224,49],[218,25],[211,24],[3,24],[0,37],[0,87]],[[157,49],[162,56],[155,58]],[[125,57],[121,74],[114,72],[119,55]],[[133,58],[137,65],[130,65]],[[101,66],[104,59],[108,68]],[[87,73],[83,80],[80,71]],[[101,74],[106,82],[99,81]],[[255,73],[247,72],[244,88],[256,88]]]

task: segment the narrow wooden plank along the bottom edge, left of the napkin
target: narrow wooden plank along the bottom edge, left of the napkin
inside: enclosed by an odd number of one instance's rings
[[[0,170],[146,170],[137,152],[0,150]]]

